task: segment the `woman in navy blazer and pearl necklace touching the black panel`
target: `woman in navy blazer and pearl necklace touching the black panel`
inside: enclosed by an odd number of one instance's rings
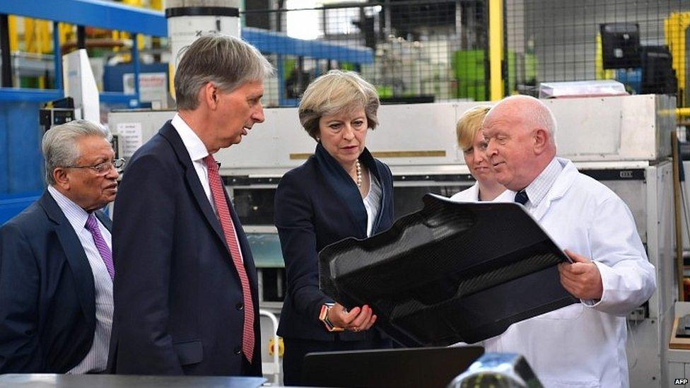
[[[392,175],[365,148],[377,124],[378,95],[351,71],[329,71],[300,102],[300,122],[317,141],[303,165],[281,179],[275,218],[287,274],[278,334],[285,341],[283,381],[302,382],[306,353],[387,348],[371,329],[368,305],[349,311],[319,289],[318,252],[346,237],[365,238],[393,221]]]

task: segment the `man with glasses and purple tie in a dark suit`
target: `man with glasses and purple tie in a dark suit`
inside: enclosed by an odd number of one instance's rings
[[[0,374],[97,373],[112,324],[110,132],[78,120],[50,129],[48,187],[0,228]]]

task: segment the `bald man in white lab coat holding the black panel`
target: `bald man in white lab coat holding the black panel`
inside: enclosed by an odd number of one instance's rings
[[[573,260],[561,283],[580,303],[513,324],[486,351],[525,355],[545,387],[628,387],[626,314],[656,289],[628,206],[556,158],[556,122],[543,102],[505,98],[482,124],[496,179]],[[603,130],[603,129],[602,129]],[[535,285],[539,286],[539,285]]]

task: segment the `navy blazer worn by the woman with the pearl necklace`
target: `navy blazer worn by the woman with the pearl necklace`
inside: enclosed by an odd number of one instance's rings
[[[382,188],[381,207],[372,234],[393,221],[390,169],[369,151],[360,156]],[[287,290],[278,334],[289,339],[334,341],[319,321],[321,306],[333,302],[319,289],[318,252],[346,237],[366,238],[366,208],[355,182],[319,143],[315,155],[287,172],[278,184],[275,221],[285,260]],[[341,332],[339,339],[374,339],[378,331]]]

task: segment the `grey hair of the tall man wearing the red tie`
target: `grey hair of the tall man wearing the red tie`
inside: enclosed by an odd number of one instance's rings
[[[175,70],[177,109],[195,110],[199,89],[214,83],[229,93],[244,83],[263,81],[273,74],[273,66],[256,47],[238,37],[209,33],[182,50]]]

